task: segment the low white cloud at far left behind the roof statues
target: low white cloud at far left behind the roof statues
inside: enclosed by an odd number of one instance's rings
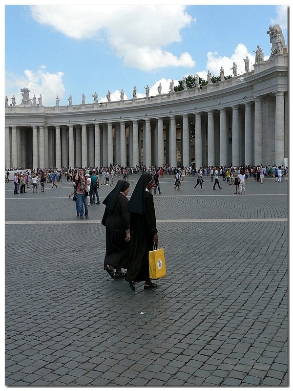
[[[30,98],[42,94],[42,104],[44,106],[54,106],[57,94],[60,99],[63,98],[65,91],[63,72],[50,73],[46,71],[45,65],[41,65],[36,71],[26,69],[23,73],[23,76],[7,72],[5,74],[5,91],[9,99],[12,95],[15,96],[17,105],[21,104],[20,88],[22,87],[29,88]]]

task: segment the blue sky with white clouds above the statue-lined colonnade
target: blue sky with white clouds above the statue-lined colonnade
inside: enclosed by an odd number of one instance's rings
[[[37,3],[38,4],[38,3]],[[274,5],[5,5],[5,87],[21,103],[22,87],[30,97],[42,94],[45,106],[99,102],[168,92],[171,79],[210,69],[219,76],[244,73],[243,59],[254,63],[253,50],[270,56],[270,24],[280,24],[285,43],[287,7]],[[175,83],[176,85],[176,83]]]

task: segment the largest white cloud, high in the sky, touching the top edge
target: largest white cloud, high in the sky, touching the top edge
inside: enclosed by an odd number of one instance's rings
[[[127,66],[151,71],[195,65],[189,53],[175,56],[164,47],[181,42],[193,21],[183,5],[33,5],[32,16],[75,39],[107,39]]]

